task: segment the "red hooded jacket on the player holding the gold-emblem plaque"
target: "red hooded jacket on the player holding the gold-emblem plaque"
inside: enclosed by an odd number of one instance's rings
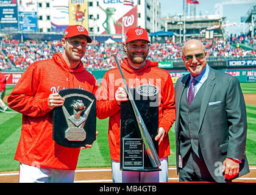
[[[59,53],[26,69],[8,98],[9,107],[23,114],[15,160],[41,168],[76,169],[80,149],[59,146],[52,140],[53,111],[48,97],[66,88],[95,94],[98,84],[82,62],[69,69]]]

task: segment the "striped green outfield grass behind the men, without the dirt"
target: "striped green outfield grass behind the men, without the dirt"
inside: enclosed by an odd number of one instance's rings
[[[7,87],[6,94],[10,94],[13,87]],[[241,83],[243,93],[252,93],[256,96],[256,83]],[[249,165],[256,165],[256,105],[247,104],[247,142],[246,154]],[[83,149],[80,152],[77,168],[110,167],[110,153],[108,147],[108,118],[97,119],[97,131],[99,135],[91,149]],[[20,113],[0,113],[0,171],[17,171],[19,163],[13,160],[16,146],[21,133]],[[171,155],[169,165],[176,165],[174,126],[169,131]]]

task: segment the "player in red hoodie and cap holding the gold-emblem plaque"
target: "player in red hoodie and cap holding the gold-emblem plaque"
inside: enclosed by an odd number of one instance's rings
[[[30,65],[13,88],[8,105],[23,114],[15,154],[20,161],[20,182],[74,182],[80,148],[63,147],[52,140],[52,109],[64,103],[59,90],[80,88],[96,93],[96,79],[81,62],[91,41],[84,26],[69,26],[62,39],[63,54]]]

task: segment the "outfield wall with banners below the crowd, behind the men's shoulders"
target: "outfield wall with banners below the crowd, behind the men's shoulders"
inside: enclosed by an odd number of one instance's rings
[[[176,83],[176,80],[184,74],[188,74],[189,72],[185,69],[183,70],[175,70],[175,69],[166,69],[172,77],[172,82]],[[231,74],[240,80],[240,82],[256,82],[256,68],[236,68],[236,69],[219,69],[224,73]],[[107,72],[105,70],[93,70],[89,71],[94,77],[98,80],[98,83],[101,83],[102,77]],[[2,73],[7,78],[7,85],[16,85],[24,71],[2,71]]]

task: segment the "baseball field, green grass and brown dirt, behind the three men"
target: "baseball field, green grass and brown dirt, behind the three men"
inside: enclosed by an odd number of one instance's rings
[[[13,87],[7,87],[4,102],[6,102],[7,96],[12,91],[12,88]],[[246,155],[251,168],[249,176],[245,176],[248,180],[245,181],[251,182],[252,179],[255,179],[254,181],[256,181],[256,82],[241,83],[241,88],[246,101],[248,122]],[[94,141],[91,149],[84,149],[80,152],[75,181],[82,182],[83,179],[79,179],[80,177],[84,177],[86,174],[91,174],[90,178],[98,179],[90,180],[90,182],[111,182],[107,130],[108,119],[97,119],[97,131],[99,132],[97,140]],[[19,163],[18,161],[13,160],[13,157],[20,139],[20,134],[21,114],[16,112],[0,112],[0,183],[18,181],[17,171],[19,170]],[[176,165],[174,126],[169,131],[169,141],[171,144],[171,155],[169,156],[169,181],[171,181],[175,180],[177,177],[174,168]],[[96,171],[93,172],[94,170]],[[95,173],[98,175],[101,174],[100,176],[94,176]],[[6,179],[7,177],[4,176],[12,177]],[[250,180],[249,177],[252,179]],[[107,179],[102,180],[104,178]]]

